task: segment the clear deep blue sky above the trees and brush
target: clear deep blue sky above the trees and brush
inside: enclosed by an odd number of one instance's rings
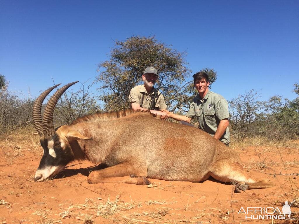
[[[114,40],[153,36],[186,51],[193,73],[217,71],[226,99],[250,89],[294,99],[299,83],[299,1],[0,1],[0,74],[33,97],[86,81]]]

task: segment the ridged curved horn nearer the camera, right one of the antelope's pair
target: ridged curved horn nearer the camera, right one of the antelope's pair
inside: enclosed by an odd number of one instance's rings
[[[77,82],[79,82],[79,81],[77,81]],[[77,82],[71,82],[65,86],[62,86],[49,99],[49,101],[46,105],[46,108],[44,110],[44,117],[42,119],[42,126],[44,129],[45,137],[55,134],[54,124],[53,124],[53,112],[54,112],[54,109],[55,109],[58,99],[65,92],[65,90],[67,90],[71,85],[74,85]]]

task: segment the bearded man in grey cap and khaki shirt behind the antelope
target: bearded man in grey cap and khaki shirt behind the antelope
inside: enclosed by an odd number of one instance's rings
[[[149,107],[152,104],[152,101],[155,100],[155,108],[154,111],[151,110],[151,112],[156,113],[157,115],[162,115],[163,119],[167,118],[167,115],[165,112],[160,112],[159,110],[166,109],[167,106],[163,95],[154,87],[157,79],[157,70],[152,66],[147,67],[142,74],[144,84],[132,88],[129,95],[129,102],[130,108],[134,111],[138,109],[141,109],[141,111],[147,111],[151,109]]]

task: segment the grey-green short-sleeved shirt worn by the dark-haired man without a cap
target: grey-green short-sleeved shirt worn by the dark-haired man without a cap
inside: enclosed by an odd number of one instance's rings
[[[219,122],[229,118],[228,102],[223,96],[209,90],[203,100],[199,95],[193,98],[186,116],[192,119],[196,116],[199,123],[198,127],[214,136]],[[228,127],[220,141],[225,144],[231,141]]]

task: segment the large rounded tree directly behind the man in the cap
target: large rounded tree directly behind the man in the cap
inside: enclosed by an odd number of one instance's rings
[[[105,111],[118,111],[129,107],[130,90],[142,83],[141,75],[147,66],[154,66],[159,74],[160,91],[170,110],[186,99],[182,85],[190,70],[184,60],[186,53],[178,52],[154,37],[133,36],[124,42],[115,42],[110,59],[98,66],[96,77],[103,90],[100,100]]]

